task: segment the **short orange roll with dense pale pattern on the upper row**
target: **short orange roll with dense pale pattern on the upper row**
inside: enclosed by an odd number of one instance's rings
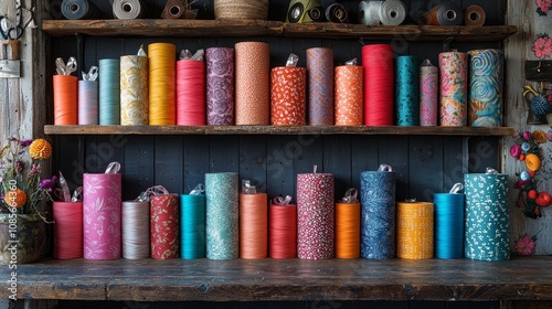
[[[305,126],[307,70],[280,66],[272,70],[270,122]]]

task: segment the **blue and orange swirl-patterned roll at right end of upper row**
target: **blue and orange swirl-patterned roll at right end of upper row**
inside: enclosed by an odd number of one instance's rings
[[[501,50],[475,50],[469,56],[468,125],[500,127],[503,105],[503,62]]]

